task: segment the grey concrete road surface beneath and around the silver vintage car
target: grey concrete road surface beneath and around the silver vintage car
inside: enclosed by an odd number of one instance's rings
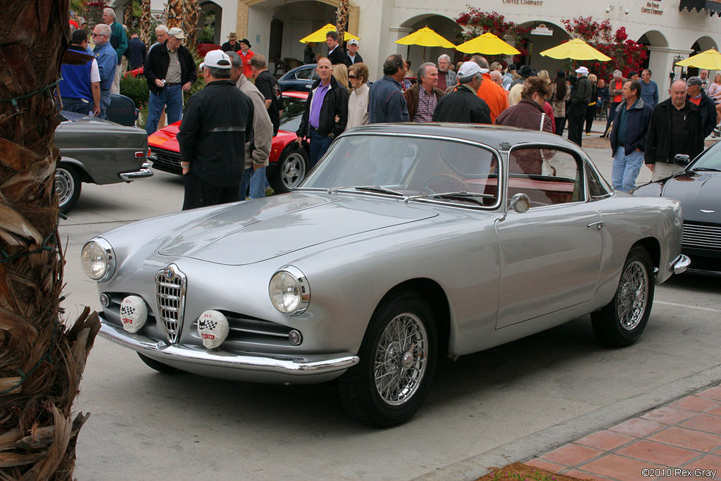
[[[609,175],[609,151],[588,152]],[[94,283],[79,266],[87,239],[181,204],[180,178],[162,172],[131,185],[84,186],[71,220],[61,226],[68,244],[67,317],[74,319],[84,305],[99,308]],[[419,414],[384,431],[351,421],[333,384],[166,376],[98,338],[76,405],[92,416],[79,437],[75,475],[97,481],[411,479],[719,366],[720,288],[720,280],[688,275],[660,286],[647,330],[630,348],[601,347],[584,317],[443,361]]]

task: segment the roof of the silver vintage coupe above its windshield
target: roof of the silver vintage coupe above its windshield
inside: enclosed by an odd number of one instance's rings
[[[464,123],[374,123],[362,125],[347,133],[402,133],[420,136],[441,136],[459,138],[491,146],[497,151],[508,151],[518,144],[555,144],[580,150],[579,147],[554,133],[528,131],[523,128],[504,125],[483,125]],[[344,133],[343,135],[346,135]]]

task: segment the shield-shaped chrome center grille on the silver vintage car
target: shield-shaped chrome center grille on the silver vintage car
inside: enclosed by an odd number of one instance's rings
[[[171,264],[155,276],[158,314],[169,343],[177,343],[185,311],[185,274]]]

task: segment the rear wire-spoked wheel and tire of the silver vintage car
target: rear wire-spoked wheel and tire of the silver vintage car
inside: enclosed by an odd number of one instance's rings
[[[626,257],[614,299],[590,314],[598,340],[614,348],[635,343],[651,315],[654,287],[651,257],[643,247],[634,246]]]

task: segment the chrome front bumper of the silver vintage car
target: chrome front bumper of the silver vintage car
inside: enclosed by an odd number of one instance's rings
[[[301,378],[317,376],[319,382],[322,382],[324,379],[320,378],[332,379],[359,361],[358,356],[352,353],[290,356],[230,353],[220,349],[208,350],[202,346],[167,344],[143,335],[131,334],[122,327],[111,325],[102,317],[99,333],[113,343],[178,369],[224,379],[306,383],[314,381]]]

